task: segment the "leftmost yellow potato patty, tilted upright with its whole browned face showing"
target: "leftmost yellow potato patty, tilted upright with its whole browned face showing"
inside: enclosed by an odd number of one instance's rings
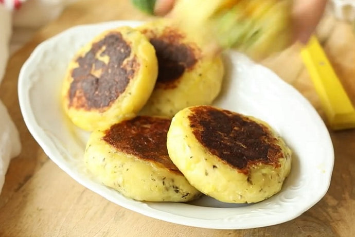
[[[105,31],[70,62],[62,88],[64,110],[84,130],[133,117],[157,77],[154,47],[139,31]]]

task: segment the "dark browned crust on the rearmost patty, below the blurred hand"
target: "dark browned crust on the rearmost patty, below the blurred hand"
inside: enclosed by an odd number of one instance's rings
[[[192,70],[201,49],[196,43],[185,43],[186,34],[172,26],[166,26],[161,34],[154,28],[141,30],[155,48],[158,60],[156,88],[173,89],[185,71]]]

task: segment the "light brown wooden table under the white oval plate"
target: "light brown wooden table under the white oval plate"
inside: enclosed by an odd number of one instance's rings
[[[213,230],[158,221],[115,205],[79,185],[48,159],[29,134],[17,101],[17,77],[39,43],[78,24],[148,17],[127,0],[88,0],[68,7],[58,20],[37,32],[10,59],[0,99],[21,133],[23,149],[10,163],[0,195],[1,236],[355,236],[355,130],[330,132],[335,166],[328,193],[303,215],[276,226]],[[350,26],[327,16],[318,35],[355,101],[355,36]],[[299,45],[267,59],[282,79],[295,86],[323,116]],[[351,68],[352,67],[352,68]]]

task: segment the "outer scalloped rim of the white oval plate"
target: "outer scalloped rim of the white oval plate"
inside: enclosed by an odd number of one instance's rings
[[[19,102],[20,102],[20,108],[21,112],[23,114],[26,126],[28,127],[28,130],[36,139],[36,141],[40,144],[44,152],[51,158],[52,161],[54,161],[64,172],[66,172],[69,176],[71,176],[73,179],[78,181],[81,185],[85,186],[88,189],[91,189],[92,191],[98,193],[99,195],[107,198],[113,203],[116,203],[122,207],[128,208],[130,210],[136,211],[138,213],[157,218],[159,220],[163,221],[168,221],[176,224],[182,224],[182,225],[187,225],[187,226],[194,226],[194,227],[203,227],[203,228],[214,228],[214,229],[246,229],[246,228],[256,228],[256,227],[264,227],[264,226],[270,226],[270,225],[276,225],[280,224],[283,222],[287,222],[292,220],[293,218],[301,215],[304,213],[306,210],[311,208],[313,205],[315,205],[319,200],[322,199],[322,197],[325,195],[327,192],[329,185],[330,185],[330,180],[331,180],[331,173],[333,169],[333,160],[334,160],[334,154],[333,154],[333,147],[331,143],[331,139],[329,137],[329,133],[326,129],[326,126],[324,125],[323,121],[319,117],[319,115],[315,112],[314,108],[310,105],[310,103],[303,97],[301,96],[295,89],[291,88],[290,85],[288,85],[286,82],[282,81],[279,79],[275,74],[274,78],[277,79],[275,81],[278,81],[279,85],[290,87],[289,89],[294,90],[294,95],[296,97],[298,96],[298,100],[300,100],[301,103],[303,103],[306,107],[308,112],[310,112],[311,116],[315,119],[317,122],[317,125],[323,132],[326,132],[328,136],[325,138],[325,143],[327,144],[327,149],[330,152],[329,157],[328,157],[328,179],[324,180],[327,181],[326,184],[322,187],[323,189],[319,191],[318,195],[316,198],[312,199],[312,202],[308,203],[306,207],[303,209],[296,210],[292,213],[289,213],[287,216],[273,216],[274,218],[268,218],[268,220],[265,220],[265,222],[262,223],[230,223],[226,221],[229,216],[225,218],[225,220],[202,220],[199,218],[192,218],[192,217],[186,217],[186,216],[181,216],[181,215],[176,215],[173,213],[169,212],[164,212],[162,210],[157,210],[153,209],[151,206],[154,206],[156,204],[146,204],[144,202],[137,202],[133,201],[128,202],[128,203],[120,203],[117,201],[117,198],[115,195],[109,195],[108,192],[106,192],[105,189],[100,189],[101,185],[99,184],[93,184],[92,180],[87,180],[85,177],[82,177],[82,174],[77,173],[78,171],[73,170],[72,168],[68,167],[66,163],[63,163],[60,159],[57,158],[58,154],[60,152],[56,148],[56,145],[51,141],[47,140],[48,135],[43,131],[43,128],[41,127],[40,124],[38,124],[36,117],[33,114],[32,111],[32,104],[30,103],[30,90],[31,87],[33,86],[32,84],[28,84],[28,74],[27,72],[30,71],[31,65],[34,63],[34,60],[36,60],[39,56],[39,54],[43,53],[43,51],[46,49],[46,47],[50,46],[51,44],[58,43],[57,41],[60,40],[61,38],[69,37],[70,33],[72,32],[77,32],[83,29],[92,29],[92,28],[108,28],[108,27],[113,27],[113,26],[118,26],[118,25],[139,25],[141,22],[139,21],[115,21],[115,22],[105,22],[105,23],[97,23],[97,24],[90,24],[90,25],[79,25],[75,26],[72,28],[69,28],[56,36],[42,42],[40,45],[37,46],[36,49],[31,53],[30,57],[28,60],[25,62],[23,65],[21,71],[20,71],[20,77],[19,77]],[[253,63],[252,63],[253,64]],[[254,65],[254,64],[253,64]],[[258,65],[259,67],[262,67]],[[265,68],[265,70],[268,70]],[[270,71],[270,70],[268,70]],[[272,73],[273,72],[269,72]],[[272,79],[274,80],[274,79]],[[36,86],[36,85],[34,85]],[[28,99],[28,100],[27,100]],[[326,130],[326,131],[325,131]],[[151,205],[151,206],[150,206]],[[174,204],[173,204],[174,205]],[[163,206],[163,205],[162,205]],[[207,208],[210,209],[210,208]],[[213,208],[212,208],[213,209]],[[271,220],[272,219],[272,220]]]

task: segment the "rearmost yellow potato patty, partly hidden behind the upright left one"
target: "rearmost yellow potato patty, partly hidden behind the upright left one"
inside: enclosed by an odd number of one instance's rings
[[[167,20],[137,29],[150,40],[158,60],[156,85],[142,115],[172,117],[185,107],[210,104],[217,97],[224,75],[220,56],[204,56],[198,38]]]

